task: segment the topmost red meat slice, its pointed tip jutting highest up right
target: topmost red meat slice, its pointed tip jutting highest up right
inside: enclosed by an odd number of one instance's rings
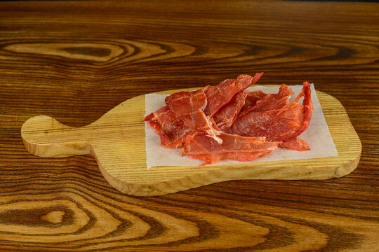
[[[206,86],[204,92],[208,104],[204,109],[204,113],[208,117],[212,117],[222,106],[230,102],[235,94],[246,90],[250,85],[256,83],[263,73],[256,73],[254,77],[247,74],[240,75],[237,79],[227,79],[215,85],[214,87]]]

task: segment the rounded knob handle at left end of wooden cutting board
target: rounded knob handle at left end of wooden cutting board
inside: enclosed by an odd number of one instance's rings
[[[34,116],[22,125],[21,137],[29,153],[63,158],[91,152],[84,128],[62,125],[50,116]]]

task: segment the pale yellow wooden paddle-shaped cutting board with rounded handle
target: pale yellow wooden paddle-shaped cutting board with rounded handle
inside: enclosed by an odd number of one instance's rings
[[[159,94],[178,91],[182,90]],[[361,142],[342,104],[324,92],[317,91],[317,96],[338,157],[147,169],[143,122],[145,95],[126,100],[84,127],[68,127],[49,116],[35,116],[22,125],[21,135],[27,151],[41,157],[93,155],[105,179],[128,195],[165,195],[237,179],[298,180],[345,176],[358,165]]]

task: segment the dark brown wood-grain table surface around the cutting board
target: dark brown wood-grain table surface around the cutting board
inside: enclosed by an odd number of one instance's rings
[[[0,3],[1,251],[379,251],[379,4]],[[39,158],[22,123],[88,125],[148,92],[265,71],[345,106],[357,169],[326,181],[228,181],[119,193],[90,155]]]

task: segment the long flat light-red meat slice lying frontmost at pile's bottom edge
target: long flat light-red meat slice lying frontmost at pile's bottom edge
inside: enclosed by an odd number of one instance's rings
[[[204,160],[201,165],[212,165],[222,158],[238,161],[254,160],[274,151],[280,142],[267,142],[264,137],[241,137],[235,134],[220,134],[222,144],[204,134],[190,134],[185,138],[182,155]]]

